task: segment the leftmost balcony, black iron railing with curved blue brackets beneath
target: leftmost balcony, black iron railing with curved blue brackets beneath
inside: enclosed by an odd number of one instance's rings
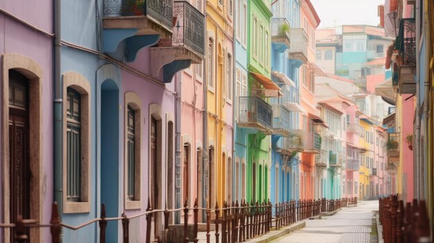
[[[139,49],[171,38],[173,0],[104,0],[103,51],[114,53],[125,40],[126,60]]]

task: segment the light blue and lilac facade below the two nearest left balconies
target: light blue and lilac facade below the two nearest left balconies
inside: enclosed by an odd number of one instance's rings
[[[161,134],[162,141],[159,141],[161,145],[159,148],[161,152],[157,153],[161,161],[166,161],[168,156],[166,151],[167,124],[168,119],[173,119],[173,114],[175,114],[175,87],[171,80],[173,74],[180,70],[180,66],[190,64],[190,60],[171,62],[161,67],[162,71],[159,75],[152,75],[149,62],[150,45],[157,43],[161,36],[134,35],[137,33],[137,29],[134,28],[104,28],[103,17],[110,16],[110,9],[107,9],[110,7],[108,3],[116,1],[62,1],[62,41],[66,44],[63,44],[61,48],[60,73],[78,73],[90,85],[88,93],[90,106],[89,210],[83,210],[81,213],[65,213],[62,210],[62,222],[73,226],[100,217],[101,204],[105,204],[106,217],[120,217],[123,213],[126,215],[143,213],[148,206],[149,197],[152,202],[157,201],[157,205],[152,205],[153,208],[163,208],[162,201],[167,200],[169,193],[165,189],[167,188],[165,186],[168,181],[167,177],[174,176],[167,174],[169,165],[166,163],[158,165],[160,168],[155,170],[161,173],[159,174],[161,182],[158,182],[161,183],[161,187],[158,189],[158,198],[154,199],[156,193],[148,191],[148,180],[150,180],[150,174],[153,173],[150,171],[150,159],[148,159],[150,158],[150,120],[155,118],[160,126],[159,134]],[[163,85],[164,82],[167,84]],[[141,164],[141,202],[139,207],[133,208],[128,208],[125,201],[124,177],[124,112],[130,104],[125,104],[125,94],[129,92],[135,93],[140,99],[136,105],[139,107],[141,124],[139,134],[141,152],[138,162]],[[67,98],[63,97],[63,102],[66,101]],[[157,108],[151,110],[151,106]],[[171,122],[175,127],[175,120]],[[66,151],[63,152],[66,153]],[[175,152],[172,152],[171,157],[175,158]],[[63,174],[63,177],[66,176]],[[64,206],[68,202],[63,201],[62,203]],[[161,217],[154,220],[161,220]],[[138,242],[139,239],[144,238],[146,231],[139,231],[139,228],[146,228],[145,224],[144,217],[130,222],[130,231],[137,232],[130,236],[130,240]],[[159,229],[155,229],[155,232],[157,236]],[[78,231],[63,229],[64,242],[98,242],[98,235],[96,224],[91,224]],[[106,235],[107,242],[121,242],[121,222],[109,222]]]

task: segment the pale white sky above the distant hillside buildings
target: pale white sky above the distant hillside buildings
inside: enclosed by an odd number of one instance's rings
[[[318,28],[342,24],[377,26],[380,23],[378,6],[384,4],[384,0],[311,0],[311,3],[321,19]]]

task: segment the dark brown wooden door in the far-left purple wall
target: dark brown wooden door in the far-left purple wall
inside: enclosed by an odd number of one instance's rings
[[[30,165],[28,144],[28,80],[10,71],[9,80],[9,178],[10,222],[18,215],[30,218]],[[29,231],[26,231],[28,235]],[[15,231],[11,230],[11,242]]]

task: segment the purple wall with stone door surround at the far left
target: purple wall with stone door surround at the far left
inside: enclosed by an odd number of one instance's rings
[[[8,17],[4,13],[0,14],[0,55],[1,73],[0,88],[4,92],[2,97],[8,93],[8,70],[17,68],[20,73],[31,78],[31,82],[38,82],[40,90],[37,95],[40,96],[40,107],[35,107],[35,112],[40,115],[40,141],[29,141],[31,149],[35,148],[39,152],[39,158],[32,158],[32,167],[39,167],[39,172],[33,174],[36,180],[37,191],[31,199],[31,217],[37,218],[39,222],[48,223],[51,218],[51,203],[53,201],[53,39],[49,36],[53,34],[53,8],[52,1],[38,1],[22,3],[19,1],[2,1],[0,3],[2,11],[14,15],[18,19],[25,21],[31,26],[37,26],[41,32],[33,30],[19,21]],[[44,12],[44,15],[40,15]],[[4,69],[6,68],[6,69]],[[39,109],[39,110],[37,110]],[[8,114],[8,104],[3,103],[3,119]],[[33,113],[33,111],[30,111]],[[8,189],[8,120],[2,120],[0,126],[0,136],[3,138],[0,146],[0,154],[3,154],[0,180],[2,188],[0,189],[0,220],[1,222],[10,222],[10,191]],[[39,143],[39,147],[35,146]],[[6,146],[7,145],[7,146]],[[36,171],[33,171],[36,172]],[[34,208],[37,206],[37,208]],[[39,212],[39,213],[36,213]],[[36,215],[38,214],[38,215]],[[36,231],[36,230],[35,230]],[[32,231],[33,232],[33,231]],[[49,229],[42,229],[39,235],[31,237],[32,242],[49,241]],[[1,231],[0,241],[8,242],[8,231]]]

